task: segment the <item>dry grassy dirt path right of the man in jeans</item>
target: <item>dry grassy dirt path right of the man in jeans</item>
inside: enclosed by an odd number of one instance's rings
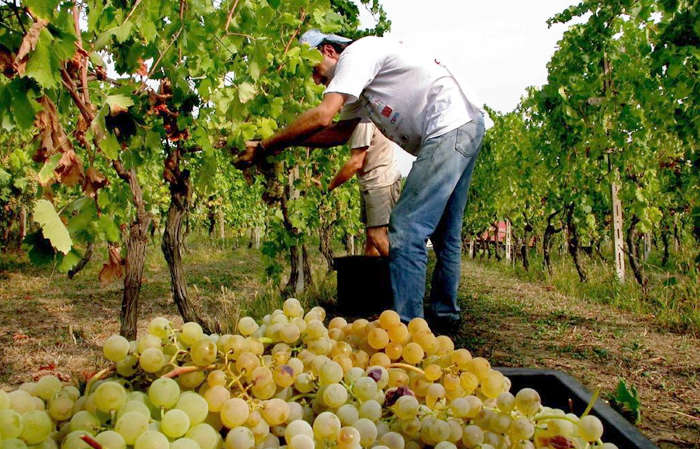
[[[642,433],[700,448],[700,340],[477,262],[462,271],[458,345],[496,366],[561,370],[603,396],[624,379],[639,391]]]

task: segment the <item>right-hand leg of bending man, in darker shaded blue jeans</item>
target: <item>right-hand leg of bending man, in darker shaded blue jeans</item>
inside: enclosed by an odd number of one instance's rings
[[[457,290],[462,261],[462,219],[474,165],[481,149],[483,121],[468,123],[461,129],[464,131],[463,136],[468,136],[463,140],[471,140],[470,143],[462,142],[462,153],[469,162],[447,202],[432,237],[437,262],[430,291],[431,310],[437,318],[446,320],[459,319]]]

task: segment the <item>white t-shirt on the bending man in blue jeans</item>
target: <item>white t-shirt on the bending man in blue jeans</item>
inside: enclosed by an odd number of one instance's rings
[[[425,140],[481,113],[462,84],[438,59],[399,41],[368,36],[340,54],[326,93],[348,95],[341,120],[369,118],[386,137],[417,155]]]

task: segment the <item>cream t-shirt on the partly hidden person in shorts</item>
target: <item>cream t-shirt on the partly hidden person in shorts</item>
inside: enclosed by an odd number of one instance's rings
[[[362,190],[390,186],[401,177],[394,143],[384,137],[372,122],[357,125],[350,137],[350,148],[367,148],[362,168],[357,171]]]

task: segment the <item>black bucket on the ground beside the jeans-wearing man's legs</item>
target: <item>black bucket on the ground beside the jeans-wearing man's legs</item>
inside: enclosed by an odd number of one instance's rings
[[[333,259],[338,272],[338,309],[348,316],[368,316],[390,309],[389,259],[346,256]]]

